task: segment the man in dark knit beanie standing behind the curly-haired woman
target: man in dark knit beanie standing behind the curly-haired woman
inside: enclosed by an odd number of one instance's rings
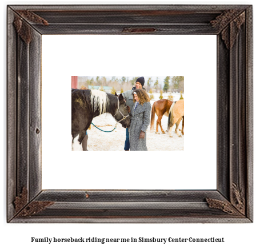
[[[130,110],[132,110],[133,105],[134,105],[133,91],[134,90],[140,90],[140,89],[145,90],[145,88],[143,88],[144,83],[145,83],[145,79],[144,79],[143,76],[141,76],[136,80],[135,87],[133,87],[131,90],[127,90],[127,91],[122,93],[123,98],[125,99],[126,105],[127,105],[127,107],[130,108]],[[129,108],[128,108],[128,112],[130,112]],[[125,151],[130,150],[129,128],[126,128],[126,139],[125,139],[125,148],[124,149],[125,149]]]

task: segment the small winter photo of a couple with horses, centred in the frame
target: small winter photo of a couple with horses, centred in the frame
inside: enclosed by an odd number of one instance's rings
[[[139,35],[138,35],[139,36]],[[136,36],[136,37],[138,37]],[[113,37],[113,36],[112,36]],[[125,36],[120,36],[121,38],[126,38]],[[134,36],[130,36],[134,38]],[[157,36],[155,36],[157,37]],[[175,37],[175,36],[170,36]],[[99,37],[95,36],[95,40],[97,41]],[[142,37],[147,39],[146,36]],[[159,36],[158,36],[159,38]],[[111,39],[111,35],[109,36]],[[143,44],[142,39],[140,42]],[[214,39],[213,39],[214,40]],[[109,41],[110,42],[110,41]],[[151,41],[150,41],[151,42]],[[215,41],[214,41],[215,42]],[[106,43],[106,41],[105,41]],[[122,46],[125,41],[122,42]],[[107,43],[109,46],[109,43]],[[131,46],[130,46],[131,47]],[[140,50],[140,49],[139,49]],[[114,49],[112,50],[114,53]],[[147,51],[147,50],[146,50]],[[134,53],[137,54],[137,53]],[[147,53],[146,53],[147,54]],[[165,55],[166,53],[162,53]],[[142,52],[140,51],[139,57],[142,57],[142,62],[144,63],[142,56]],[[169,57],[167,57],[169,58]],[[131,58],[131,60],[133,60]],[[107,59],[109,61],[109,58]],[[124,66],[122,63],[122,67]],[[146,66],[147,67],[147,66]],[[141,66],[140,66],[141,68]],[[117,68],[115,67],[115,70]],[[140,69],[141,70],[141,69]],[[144,71],[144,70],[143,70]],[[102,106],[99,102],[97,106],[100,111],[99,114],[97,111],[93,111],[93,117],[91,117],[91,122],[88,120],[88,131],[85,132],[85,137],[80,144],[78,139],[79,135],[73,136],[73,147],[72,150],[77,151],[139,151],[136,147],[130,148],[130,128],[133,127],[131,124],[132,112],[134,114],[141,114],[142,119],[146,115],[146,120],[143,121],[141,126],[145,124],[145,139],[143,145],[143,151],[181,151],[184,150],[184,76],[72,76],[71,79],[76,79],[77,85],[75,86],[75,80],[73,81],[73,92],[71,99],[71,118],[73,126],[77,126],[80,124],[80,129],[83,130],[85,124],[83,120],[81,120],[82,115],[86,115],[85,107],[88,107],[92,100],[94,99],[102,99]],[[141,80],[142,83],[137,82],[136,80]],[[72,83],[72,82],[71,82]],[[209,84],[210,85],[210,84]],[[72,87],[72,86],[71,86]],[[145,94],[143,96],[141,108],[135,108],[134,103],[135,99],[133,99],[133,93],[136,90],[140,91],[142,89],[142,93]],[[75,91],[76,90],[76,91]],[[101,91],[101,92],[99,92]],[[69,93],[67,93],[69,94]],[[115,95],[117,94],[117,95]],[[137,93],[138,94],[138,93]],[[93,99],[87,100],[83,99],[83,96],[90,95],[93,96]],[[119,99],[115,96],[123,96],[124,102],[119,103]],[[111,98],[111,99],[110,99]],[[145,98],[145,99],[144,99]],[[206,97],[205,97],[206,99]],[[107,100],[111,100],[109,104],[104,106]],[[213,100],[215,100],[215,96],[213,95]],[[85,101],[85,102],[84,102]],[[150,106],[145,112],[143,109],[143,103],[150,103]],[[203,100],[202,100],[203,102]],[[87,106],[86,106],[87,104]],[[129,106],[130,114],[126,109],[123,108],[121,104]],[[84,105],[84,106],[83,106]],[[146,104],[147,105],[147,104]],[[175,118],[173,117],[173,124],[169,131],[172,131],[170,134],[168,130],[168,121],[169,121],[169,110],[171,106],[173,108],[175,106]],[[103,108],[106,107],[104,110]],[[111,110],[111,107],[113,109]],[[178,107],[178,108],[177,108]],[[213,106],[214,107],[214,106]],[[50,107],[49,107],[50,108]],[[134,109],[135,108],[135,109]],[[173,110],[171,108],[171,110]],[[191,106],[193,108],[193,106]],[[206,108],[206,107],[205,107]],[[215,107],[214,107],[215,108]],[[121,113],[119,113],[118,109],[120,109]],[[93,110],[93,108],[92,108]],[[109,112],[107,112],[109,110]],[[90,108],[87,108],[87,112],[91,112]],[[72,113],[73,112],[73,113]],[[110,113],[111,112],[111,113]],[[208,112],[210,113],[210,112]],[[213,114],[210,114],[213,115]],[[89,116],[87,114],[87,116]],[[212,117],[212,116],[211,116]],[[86,119],[85,119],[86,120]],[[171,121],[171,114],[170,114]],[[130,123],[130,126],[126,125]],[[134,123],[135,124],[135,123]],[[169,123],[170,126],[170,123]],[[51,127],[51,124],[49,124]],[[125,128],[125,129],[123,129]],[[134,127],[135,128],[135,127]],[[71,131],[73,131],[71,125]],[[140,130],[138,130],[140,132]],[[54,133],[54,132],[53,132]],[[79,134],[79,133],[78,133]],[[90,134],[90,137],[89,137]],[[155,134],[159,135],[156,136]],[[133,144],[138,142],[139,134],[134,134]],[[50,136],[50,135],[49,135]],[[51,135],[51,136],[54,136]],[[214,136],[214,133],[213,133]],[[171,138],[170,138],[171,137]],[[124,140],[125,138],[125,140]],[[215,138],[214,138],[215,139]],[[104,141],[105,143],[101,143]],[[106,146],[107,145],[107,146]],[[139,147],[142,151],[142,147]]]

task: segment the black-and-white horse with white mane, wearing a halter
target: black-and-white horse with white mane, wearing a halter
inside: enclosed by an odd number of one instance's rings
[[[82,143],[94,117],[110,113],[122,127],[130,126],[130,116],[123,95],[110,94],[100,90],[71,89],[71,135],[72,143],[79,135]]]

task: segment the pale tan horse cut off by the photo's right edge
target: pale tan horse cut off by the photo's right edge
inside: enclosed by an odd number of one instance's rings
[[[176,123],[176,128],[177,128],[177,123],[179,124],[181,122],[182,118],[183,118],[183,123],[182,123],[182,127],[183,127],[183,125],[184,125],[184,99],[177,100],[176,102],[173,102],[173,104],[171,104],[171,107],[169,110],[169,115],[168,115],[168,127],[167,127],[167,131],[169,132],[170,137],[173,137],[171,135],[171,130],[172,130],[174,124]],[[183,128],[182,128],[182,130],[183,130]],[[182,137],[181,135],[179,135],[179,130],[176,129],[175,132],[179,137]]]

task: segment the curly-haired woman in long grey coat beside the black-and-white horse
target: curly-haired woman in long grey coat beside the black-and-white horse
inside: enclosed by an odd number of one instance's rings
[[[133,108],[131,109],[131,124],[129,127],[130,150],[146,151],[146,130],[150,124],[151,104],[145,90],[133,91]]]

